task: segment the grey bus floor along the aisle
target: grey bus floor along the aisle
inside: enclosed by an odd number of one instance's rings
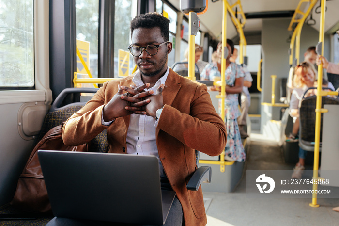
[[[339,206],[339,198],[318,198],[320,207],[313,208],[309,206],[311,198],[246,196],[246,170],[292,170],[294,166],[284,163],[277,142],[267,141],[263,137],[261,139],[261,136],[251,134],[247,140],[249,144],[243,177],[233,192],[203,192],[207,226],[339,225],[339,212],[332,210]],[[306,169],[312,170],[313,166],[307,166]],[[339,193],[338,187],[331,188]]]

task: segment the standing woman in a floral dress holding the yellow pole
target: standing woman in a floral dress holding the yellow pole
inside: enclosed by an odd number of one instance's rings
[[[234,44],[227,39],[228,56],[226,58],[226,98],[225,98],[225,123],[227,129],[227,143],[225,147],[225,159],[229,161],[245,161],[245,150],[241,142],[241,135],[237,118],[240,116],[238,108],[238,94],[243,89],[245,73],[240,65],[230,62],[231,53],[234,51]],[[222,45],[218,44],[215,59],[206,65],[200,74],[201,80],[214,81],[220,78]],[[219,101],[219,109],[221,102]]]

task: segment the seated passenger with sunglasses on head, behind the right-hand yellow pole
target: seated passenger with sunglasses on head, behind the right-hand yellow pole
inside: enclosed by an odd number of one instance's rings
[[[316,71],[312,64],[303,62],[295,67],[295,84],[290,102],[290,115],[293,117],[292,134],[286,141],[297,141],[299,132],[299,101],[303,97],[304,92],[313,87],[316,77]],[[301,178],[303,170],[305,169],[306,151],[299,147],[299,161],[293,169],[292,178]]]

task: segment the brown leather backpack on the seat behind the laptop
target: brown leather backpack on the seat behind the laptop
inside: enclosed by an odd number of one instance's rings
[[[35,145],[20,175],[11,204],[20,210],[51,213],[44,176],[38,159],[38,150],[88,151],[89,144],[66,146],[62,141],[62,125],[50,129]]]

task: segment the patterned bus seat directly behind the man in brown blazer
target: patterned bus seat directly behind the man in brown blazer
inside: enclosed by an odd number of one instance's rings
[[[80,94],[80,93],[96,93],[98,88],[66,88],[58,95],[53,102],[49,113],[47,113],[41,132],[39,134],[38,141],[46,134],[49,129],[61,125],[62,122],[66,121],[73,113],[80,110],[86,102],[74,102],[61,106],[64,102],[65,97],[69,94]],[[92,141],[89,148],[90,152],[108,152],[107,144],[107,131],[106,129],[98,134]]]

